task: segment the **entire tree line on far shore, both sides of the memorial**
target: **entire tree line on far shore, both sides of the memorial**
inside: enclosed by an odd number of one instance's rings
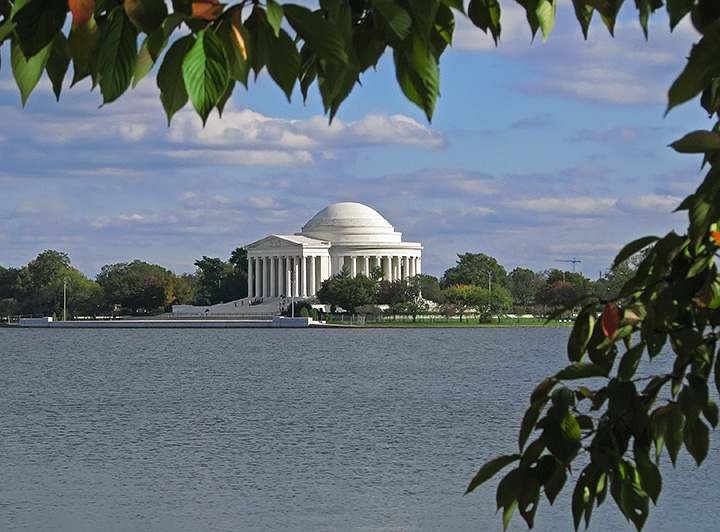
[[[244,249],[233,250],[228,260],[203,256],[194,264],[194,273],[177,275],[136,259],[107,264],[89,279],[71,265],[67,253],[46,250],[20,268],[0,266],[0,315],[59,317],[63,305],[70,318],[157,314],[173,305],[214,305],[247,297]],[[493,257],[464,253],[440,278],[422,274],[391,282],[380,268],[369,277],[354,278],[344,268],[322,283],[317,296],[322,303],[365,315],[415,319],[432,311],[461,319],[474,314],[489,321],[510,312],[545,314],[589,293],[612,298],[632,271],[632,264],[623,265],[595,282],[557,269],[515,268],[508,274]]]

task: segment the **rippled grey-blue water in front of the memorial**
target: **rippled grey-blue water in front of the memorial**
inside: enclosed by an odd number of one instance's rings
[[[501,530],[493,487],[463,492],[567,334],[0,329],[0,530]],[[716,530],[718,454],[683,453],[646,530]],[[569,495],[537,530],[572,530]]]

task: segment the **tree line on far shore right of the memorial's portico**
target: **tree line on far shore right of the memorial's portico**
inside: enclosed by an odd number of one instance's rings
[[[494,257],[463,253],[440,278],[422,274],[388,281],[380,268],[368,277],[353,278],[349,269],[343,268],[321,284],[317,297],[322,303],[362,315],[404,315],[415,321],[428,313],[459,315],[461,320],[474,314],[479,321],[489,322],[509,313],[544,316],[567,301],[590,294],[616,298],[637,263],[638,259],[631,258],[593,282],[581,273],[559,269],[535,272],[518,267],[507,273]]]

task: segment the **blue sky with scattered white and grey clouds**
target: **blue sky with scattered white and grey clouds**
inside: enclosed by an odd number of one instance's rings
[[[684,231],[673,210],[702,180],[701,160],[668,145],[712,127],[697,101],[665,116],[699,38],[690,24],[671,34],[658,14],[645,41],[632,6],[621,14],[614,39],[596,17],[585,41],[562,0],[543,43],[503,3],[497,47],[459,21],[432,123],[402,95],[391,57],[331,125],[316,87],[288,103],[265,74],[204,128],[190,105],[168,127],[155,71],[104,106],[87,81],[58,103],[45,78],[23,109],[4,46],[0,266],[55,249],[90,278],[135,259],[193,272],[203,256],[227,260],[356,201],[424,245],[424,273],[471,252],[508,272],[595,279],[627,242]]]

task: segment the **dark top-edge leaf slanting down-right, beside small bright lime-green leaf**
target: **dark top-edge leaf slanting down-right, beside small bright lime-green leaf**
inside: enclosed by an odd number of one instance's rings
[[[331,62],[348,63],[345,41],[339,30],[319,12],[294,4],[285,4],[283,9],[287,21],[318,57]]]

